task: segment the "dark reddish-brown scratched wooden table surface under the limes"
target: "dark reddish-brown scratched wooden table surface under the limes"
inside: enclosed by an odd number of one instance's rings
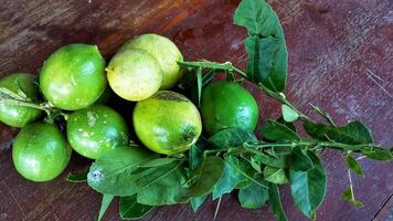
[[[393,144],[393,3],[391,0],[272,0],[284,25],[289,52],[290,101],[315,116],[309,103],[328,109],[338,123],[361,119],[381,145]],[[0,74],[38,73],[57,48],[73,42],[97,44],[106,59],[127,39],[156,32],[172,39],[187,60],[232,61],[245,67],[246,31],[232,24],[238,0],[1,0]],[[261,124],[276,117],[279,105],[262,91]],[[129,110],[130,114],[130,110]],[[261,125],[259,124],[259,125]],[[13,168],[10,146],[17,133],[0,125],[0,220],[94,220],[100,197],[86,183],[64,178],[87,160],[75,156],[66,171],[33,183]],[[393,164],[361,160],[365,177],[353,177],[364,208],[340,200],[348,186],[342,154],[322,156],[329,177],[323,221],[393,220]],[[283,188],[289,220],[306,220]],[[215,202],[198,213],[189,206],[161,207],[145,220],[212,220]],[[105,220],[119,220],[117,203]],[[235,196],[223,198],[216,220],[274,220],[268,206],[241,209]]]

